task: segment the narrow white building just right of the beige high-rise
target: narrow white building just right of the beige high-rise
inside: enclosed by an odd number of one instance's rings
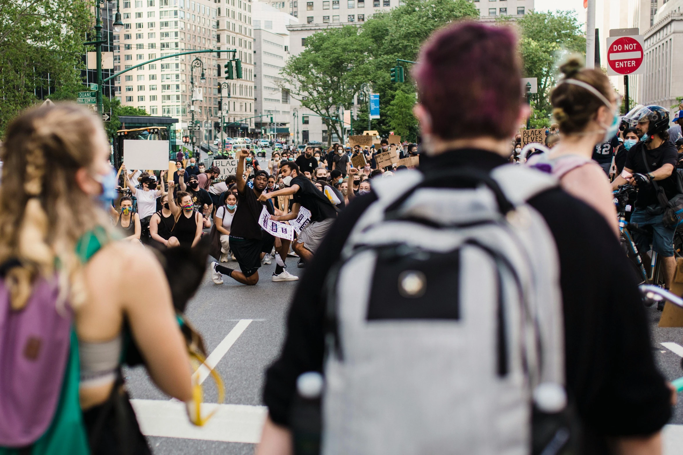
[[[266,2],[253,4],[255,128],[262,137],[290,139],[290,92],[281,87],[280,71],[289,58],[288,25],[298,20]]]

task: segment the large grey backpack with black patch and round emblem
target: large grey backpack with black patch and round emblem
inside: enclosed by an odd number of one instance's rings
[[[373,181],[326,283],[323,454],[563,453],[566,426],[539,451],[530,424],[566,407],[557,249],[526,203],[555,186],[514,164]]]

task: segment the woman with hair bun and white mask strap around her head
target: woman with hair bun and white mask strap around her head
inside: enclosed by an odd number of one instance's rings
[[[555,175],[563,190],[602,214],[618,236],[607,175],[591,156],[596,144],[617,134],[620,100],[602,71],[582,66],[576,57],[560,66],[564,77],[550,93],[550,102],[561,141],[550,153],[529,158],[527,164]]]

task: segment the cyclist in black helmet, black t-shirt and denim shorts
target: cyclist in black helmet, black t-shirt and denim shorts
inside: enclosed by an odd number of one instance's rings
[[[669,111],[662,106],[636,106],[625,117],[636,130],[640,141],[626,155],[624,170],[612,183],[638,187],[635,211],[630,222],[638,227],[652,226],[652,249],[662,256],[665,267],[665,286],[673,282],[676,261],[673,255],[675,228],[663,224],[663,207],[657,199],[657,188],[663,190],[667,201],[678,194],[678,151],[669,141]],[[656,183],[654,183],[656,182]],[[650,239],[634,233],[638,248],[650,250]]]

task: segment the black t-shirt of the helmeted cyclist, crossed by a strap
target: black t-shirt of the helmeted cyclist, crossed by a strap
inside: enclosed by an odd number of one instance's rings
[[[645,167],[645,164],[643,163],[643,151],[645,151],[645,158],[647,158],[647,166],[650,166],[650,171],[647,170],[647,167]],[[667,163],[671,164],[673,168],[678,164],[678,151],[676,150],[675,145],[671,144],[669,141],[663,141],[662,145],[656,149],[648,150],[645,147],[645,143],[638,142],[631,147],[626,154],[626,163],[624,164],[624,167],[631,169],[634,174],[647,174],[648,172],[656,171]],[[676,190],[676,181],[673,173],[666,179],[658,180],[657,184],[664,189],[667,199],[671,199],[678,192],[678,190]],[[654,185],[638,188],[636,207],[642,208],[652,204],[658,204]]]

